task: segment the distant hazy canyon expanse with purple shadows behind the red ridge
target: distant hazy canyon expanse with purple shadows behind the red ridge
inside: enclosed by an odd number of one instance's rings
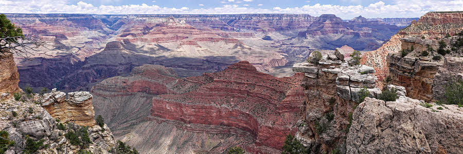
[[[330,14],[6,15],[50,49],[35,52],[31,61],[15,57],[19,86],[65,91],[89,91],[144,64],[171,67],[188,77],[248,61],[258,71],[291,76],[291,66],[311,51],[346,44],[355,50],[376,49],[414,20],[360,16],[344,22]]]

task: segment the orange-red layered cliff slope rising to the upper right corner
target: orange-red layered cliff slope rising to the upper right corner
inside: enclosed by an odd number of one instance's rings
[[[463,30],[463,24],[460,20],[458,20],[461,16],[460,14],[461,12],[426,13],[420,18],[420,20],[418,20],[418,22],[412,22],[410,26],[400,30],[397,34],[392,36],[390,40],[379,49],[363,54],[362,64],[375,68],[375,75],[379,80],[378,86],[382,87],[386,76],[389,76],[389,68],[387,67],[386,61],[386,57],[389,53],[400,56],[399,52],[402,49],[410,49],[412,45],[414,45],[415,48],[418,48],[415,50],[414,54],[411,54],[413,56],[419,56],[421,51],[427,50],[428,44],[434,49],[437,49],[438,40],[444,38],[446,34],[454,35],[455,33]],[[449,16],[452,16],[452,18],[449,18]],[[439,22],[443,20],[446,20],[446,22]],[[449,42],[446,43],[449,44]],[[430,54],[437,55],[435,52],[431,52]],[[410,83],[411,81],[400,82]],[[432,81],[426,82],[430,83]]]

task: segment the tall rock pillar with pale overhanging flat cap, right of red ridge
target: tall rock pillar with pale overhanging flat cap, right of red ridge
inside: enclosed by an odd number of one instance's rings
[[[339,60],[342,57],[339,53],[324,54],[318,64],[293,66],[294,71],[306,76],[302,82],[305,99],[296,138],[312,152],[329,153],[335,148],[345,151],[342,145],[347,135],[348,114],[359,102],[361,89],[368,89],[370,97],[381,93],[372,67],[349,66]]]

